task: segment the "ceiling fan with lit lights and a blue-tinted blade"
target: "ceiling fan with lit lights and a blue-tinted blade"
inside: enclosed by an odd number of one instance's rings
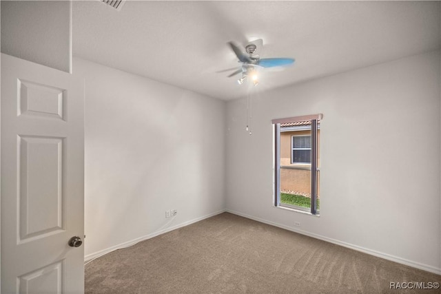
[[[233,42],[228,42],[229,46],[232,48],[234,54],[236,54],[238,58],[238,62],[242,63],[242,65],[232,74],[229,74],[229,78],[235,76],[236,74],[242,74],[242,77],[237,80],[238,84],[241,85],[249,76],[254,85],[258,85],[258,76],[256,67],[281,67],[287,66],[294,63],[294,59],[289,58],[270,58],[270,59],[260,59],[260,56],[254,55],[257,49],[256,43],[262,43],[262,40],[259,39],[252,43],[249,43],[245,46],[245,52],[240,49],[238,45]],[[229,69],[234,70],[236,67]],[[223,72],[228,71],[224,70]]]

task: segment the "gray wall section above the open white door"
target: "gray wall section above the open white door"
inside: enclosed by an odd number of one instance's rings
[[[72,3],[1,1],[1,52],[70,72]]]

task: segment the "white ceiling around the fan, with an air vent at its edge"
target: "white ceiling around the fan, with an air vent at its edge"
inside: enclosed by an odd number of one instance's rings
[[[229,72],[228,41],[264,41],[262,91],[441,47],[439,1],[100,1],[73,4],[73,53],[156,81],[229,100],[251,87]]]

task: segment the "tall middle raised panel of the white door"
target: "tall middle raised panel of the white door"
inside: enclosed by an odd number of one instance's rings
[[[65,230],[63,141],[19,136],[19,243]]]

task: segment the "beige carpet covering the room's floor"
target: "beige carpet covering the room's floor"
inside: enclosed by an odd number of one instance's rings
[[[441,276],[222,213],[85,267],[86,293],[440,293]]]

